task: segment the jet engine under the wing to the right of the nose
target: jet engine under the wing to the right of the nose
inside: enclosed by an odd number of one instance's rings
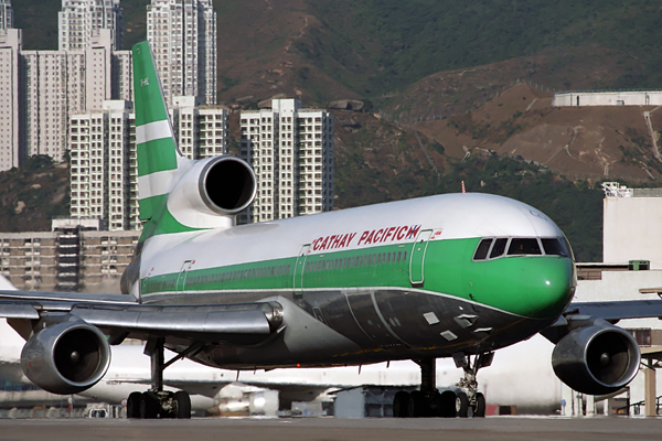
[[[626,330],[602,320],[565,335],[552,353],[556,376],[574,390],[607,395],[628,385],[639,370],[639,345]]]

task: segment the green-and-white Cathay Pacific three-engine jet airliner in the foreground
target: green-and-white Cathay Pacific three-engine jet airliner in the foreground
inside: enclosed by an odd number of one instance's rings
[[[145,224],[122,294],[0,292],[35,385],[90,388],[127,337],[146,342],[152,374],[129,395],[129,418],[190,418],[189,395],[163,388],[163,369],[184,357],[238,370],[413,359],[420,388],[395,395],[403,418],[483,417],[479,369],[536,333],[577,391],[613,392],[637,374],[637,342],[611,322],[662,316],[662,301],[570,303],[569,244],[517,201],[442,194],[235,225],[256,196],[252,168],[182,157],[149,44],[132,56]],[[178,355],[166,362],[164,347]],[[440,357],[462,368],[462,391],[437,389]]]

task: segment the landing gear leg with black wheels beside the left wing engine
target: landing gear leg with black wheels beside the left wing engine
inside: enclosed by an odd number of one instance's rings
[[[151,358],[152,387],[146,392],[131,392],[127,399],[127,418],[191,418],[191,397],[183,390],[163,390],[163,369],[181,359],[179,355],[163,363],[164,338],[147,342],[145,353]]]

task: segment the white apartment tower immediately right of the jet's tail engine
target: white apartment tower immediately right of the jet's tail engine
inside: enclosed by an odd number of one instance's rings
[[[257,176],[244,222],[333,209],[333,115],[273,99],[270,109],[243,111],[241,126],[242,158]]]

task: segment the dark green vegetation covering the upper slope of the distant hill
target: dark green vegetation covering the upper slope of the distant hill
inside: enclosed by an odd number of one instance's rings
[[[590,44],[612,50],[612,56],[627,65],[627,73],[605,86],[662,84],[658,51],[662,10],[645,0],[311,0],[309,4],[323,31],[299,47],[364,96],[394,92],[440,71]]]

